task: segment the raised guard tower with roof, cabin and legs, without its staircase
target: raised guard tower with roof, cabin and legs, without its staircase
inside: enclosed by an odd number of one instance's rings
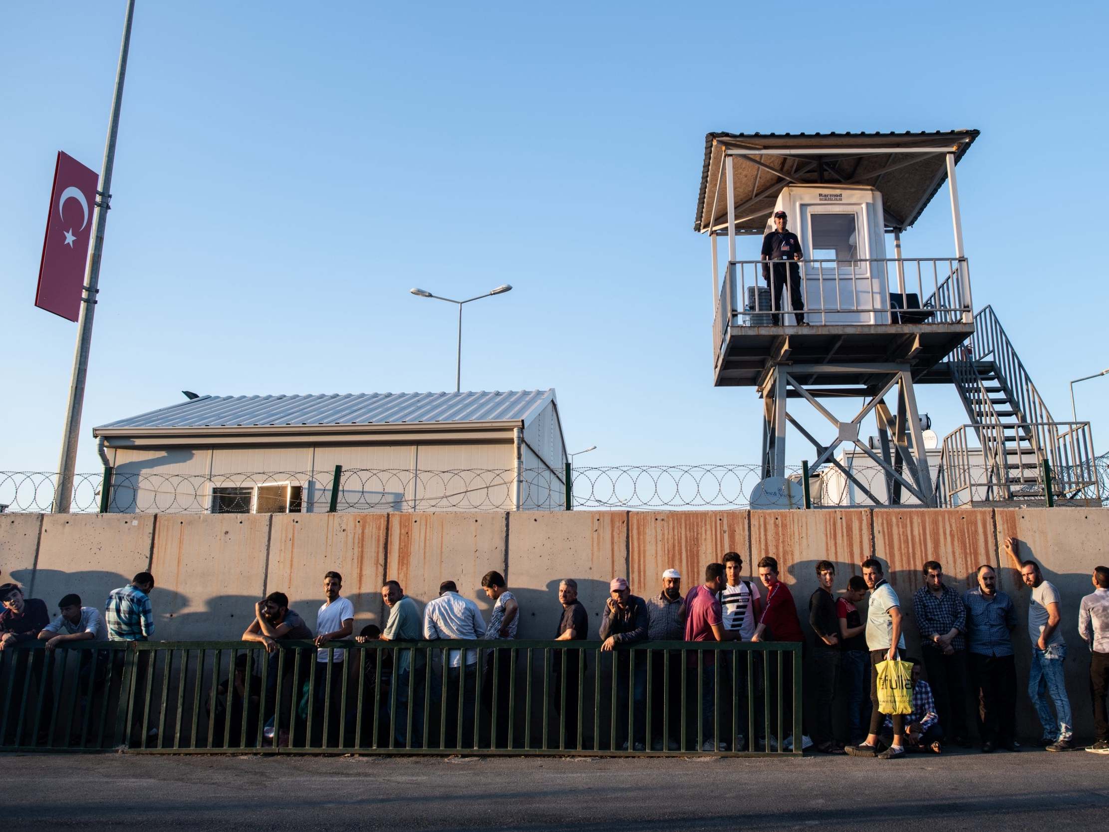
[[[716,386],[754,387],[762,398],[763,477],[785,475],[786,425],[793,425],[815,448],[814,470],[835,466],[869,494],[835,458],[848,443],[886,475],[889,497],[872,495],[874,503],[898,503],[906,489],[935,505],[914,382],[974,332],[955,166],[977,135],[705,136],[694,230],[712,248],[713,378]],[[903,257],[902,233],[945,183],[952,248]],[[765,261],[736,255],[737,240],[772,231],[779,210],[801,241],[804,325],[794,322],[788,283],[776,301],[763,277]],[[822,404],[844,397],[862,399],[849,420]],[[821,430],[793,410],[815,412],[831,424],[831,436],[818,438]],[[881,453],[859,440],[872,414]]]

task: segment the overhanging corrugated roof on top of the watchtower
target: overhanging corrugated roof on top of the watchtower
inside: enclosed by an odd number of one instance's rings
[[[882,192],[887,211],[896,216],[897,224],[902,229],[908,229],[917,221],[925,206],[947,179],[945,161],[942,158],[920,156],[917,163],[897,168],[883,174],[881,171],[889,166],[891,159],[883,159],[881,155],[859,159],[845,159],[834,154],[822,156],[821,149],[836,146],[908,149],[950,143],[953,148],[957,146],[955,161],[958,162],[977,138],[977,130],[920,131],[918,133],[910,131],[904,133],[709,133],[704,138],[704,163],[701,169],[701,190],[698,194],[693,230],[702,231],[716,226],[721,222],[726,224],[728,200],[721,196],[723,186],[720,187],[720,193],[714,193],[713,200],[710,200],[709,196],[709,189],[715,189],[715,184],[723,179],[720,174],[726,148],[764,149],[766,152],[761,159],[763,164],[806,183],[816,183],[821,179],[816,175],[816,165],[813,166],[813,170],[798,170],[795,163],[797,161],[814,162],[821,160],[825,173],[828,174],[824,184],[834,187],[838,179],[840,183],[876,187]],[[812,153],[791,156],[790,159],[794,160],[794,166],[787,170],[788,160],[785,156],[774,155],[775,149],[786,148],[811,150]],[[733,156],[732,164],[735,174],[736,207],[741,209],[741,216],[746,217],[745,220],[737,219],[736,227],[741,232],[761,234],[764,231],[766,217],[774,207],[777,192],[790,184],[790,180],[780,176],[775,182],[774,173],[742,158]],[[710,205],[709,202],[713,204]]]

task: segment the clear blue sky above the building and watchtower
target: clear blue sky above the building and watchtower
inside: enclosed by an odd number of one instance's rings
[[[1052,414],[1109,366],[1106,7],[162,3],[135,16],[80,470],[94,425],[234,395],[554,387],[580,464],[753,463],[714,388],[704,134],[977,128],[976,306]],[[75,325],[33,306],[54,154],[100,166],[123,2],[0,11],[0,469],[57,466]],[[950,256],[946,190],[905,256]],[[742,251],[742,250],[741,250]],[[1109,448],[1109,377],[1077,388]],[[965,415],[926,388],[940,435]],[[790,458],[811,450],[793,435]]]

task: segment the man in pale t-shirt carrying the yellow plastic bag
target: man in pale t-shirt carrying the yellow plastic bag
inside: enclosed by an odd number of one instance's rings
[[[904,759],[905,718],[899,713],[888,714],[893,733],[889,748],[878,752],[878,728],[883,714],[878,707],[878,664],[896,661],[898,651],[905,649],[902,632],[901,600],[889,586],[882,569],[882,561],[867,558],[863,561],[863,578],[871,588],[871,602],[866,610],[866,646],[871,650],[871,731],[858,745],[848,745],[846,751],[853,757],[881,757],[883,760]]]

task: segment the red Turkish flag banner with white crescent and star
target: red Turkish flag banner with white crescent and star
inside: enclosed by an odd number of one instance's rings
[[[99,183],[99,173],[58,152],[34,305],[69,321],[77,321],[81,313]]]

